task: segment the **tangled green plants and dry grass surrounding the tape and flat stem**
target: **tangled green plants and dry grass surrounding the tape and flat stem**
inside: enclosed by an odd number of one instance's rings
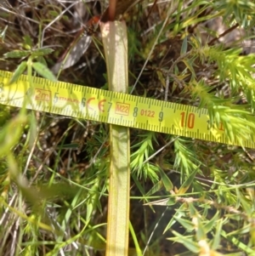
[[[0,70],[111,88],[91,20],[106,7],[0,3]],[[206,107],[209,126],[254,139],[253,1],[140,1],[121,19],[130,94]],[[105,255],[112,128],[5,105],[0,127],[0,255]],[[126,132],[128,255],[255,255],[253,149]]]

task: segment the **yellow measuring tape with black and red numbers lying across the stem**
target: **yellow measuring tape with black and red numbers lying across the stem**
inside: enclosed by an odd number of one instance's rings
[[[33,77],[30,86],[26,75],[8,85],[12,75],[0,71],[0,104],[17,107],[25,104],[27,109],[35,111],[240,145],[238,141],[229,141],[223,127],[209,126],[206,109],[40,77]],[[243,141],[243,145],[255,148],[251,140]]]

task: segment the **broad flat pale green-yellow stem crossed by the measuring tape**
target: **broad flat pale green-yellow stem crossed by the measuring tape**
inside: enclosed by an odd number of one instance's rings
[[[108,84],[112,91],[127,93],[127,27],[124,22],[101,23]],[[129,129],[110,126],[110,188],[106,256],[128,252],[130,145]]]

